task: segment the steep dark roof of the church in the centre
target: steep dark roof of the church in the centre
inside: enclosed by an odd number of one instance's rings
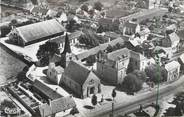
[[[82,63],[79,63],[78,61],[70,61],[64,71],[64,76],[72,79],[80,85],[83,85],[90,72],[91,71],[82,65]]]

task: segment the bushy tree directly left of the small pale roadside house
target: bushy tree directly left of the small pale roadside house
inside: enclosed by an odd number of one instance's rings
[[[150,65],[146,67],[145,72],[150,80],[154,83],[167,81],[167,70],[164,67],[158,65]]]

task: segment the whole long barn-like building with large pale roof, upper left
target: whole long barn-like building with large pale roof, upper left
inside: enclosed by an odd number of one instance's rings
[[[46,20],[12,29],[9,39],[20,46],[27,46],[39,41],[63,35],[65,28],[56,20]]]

